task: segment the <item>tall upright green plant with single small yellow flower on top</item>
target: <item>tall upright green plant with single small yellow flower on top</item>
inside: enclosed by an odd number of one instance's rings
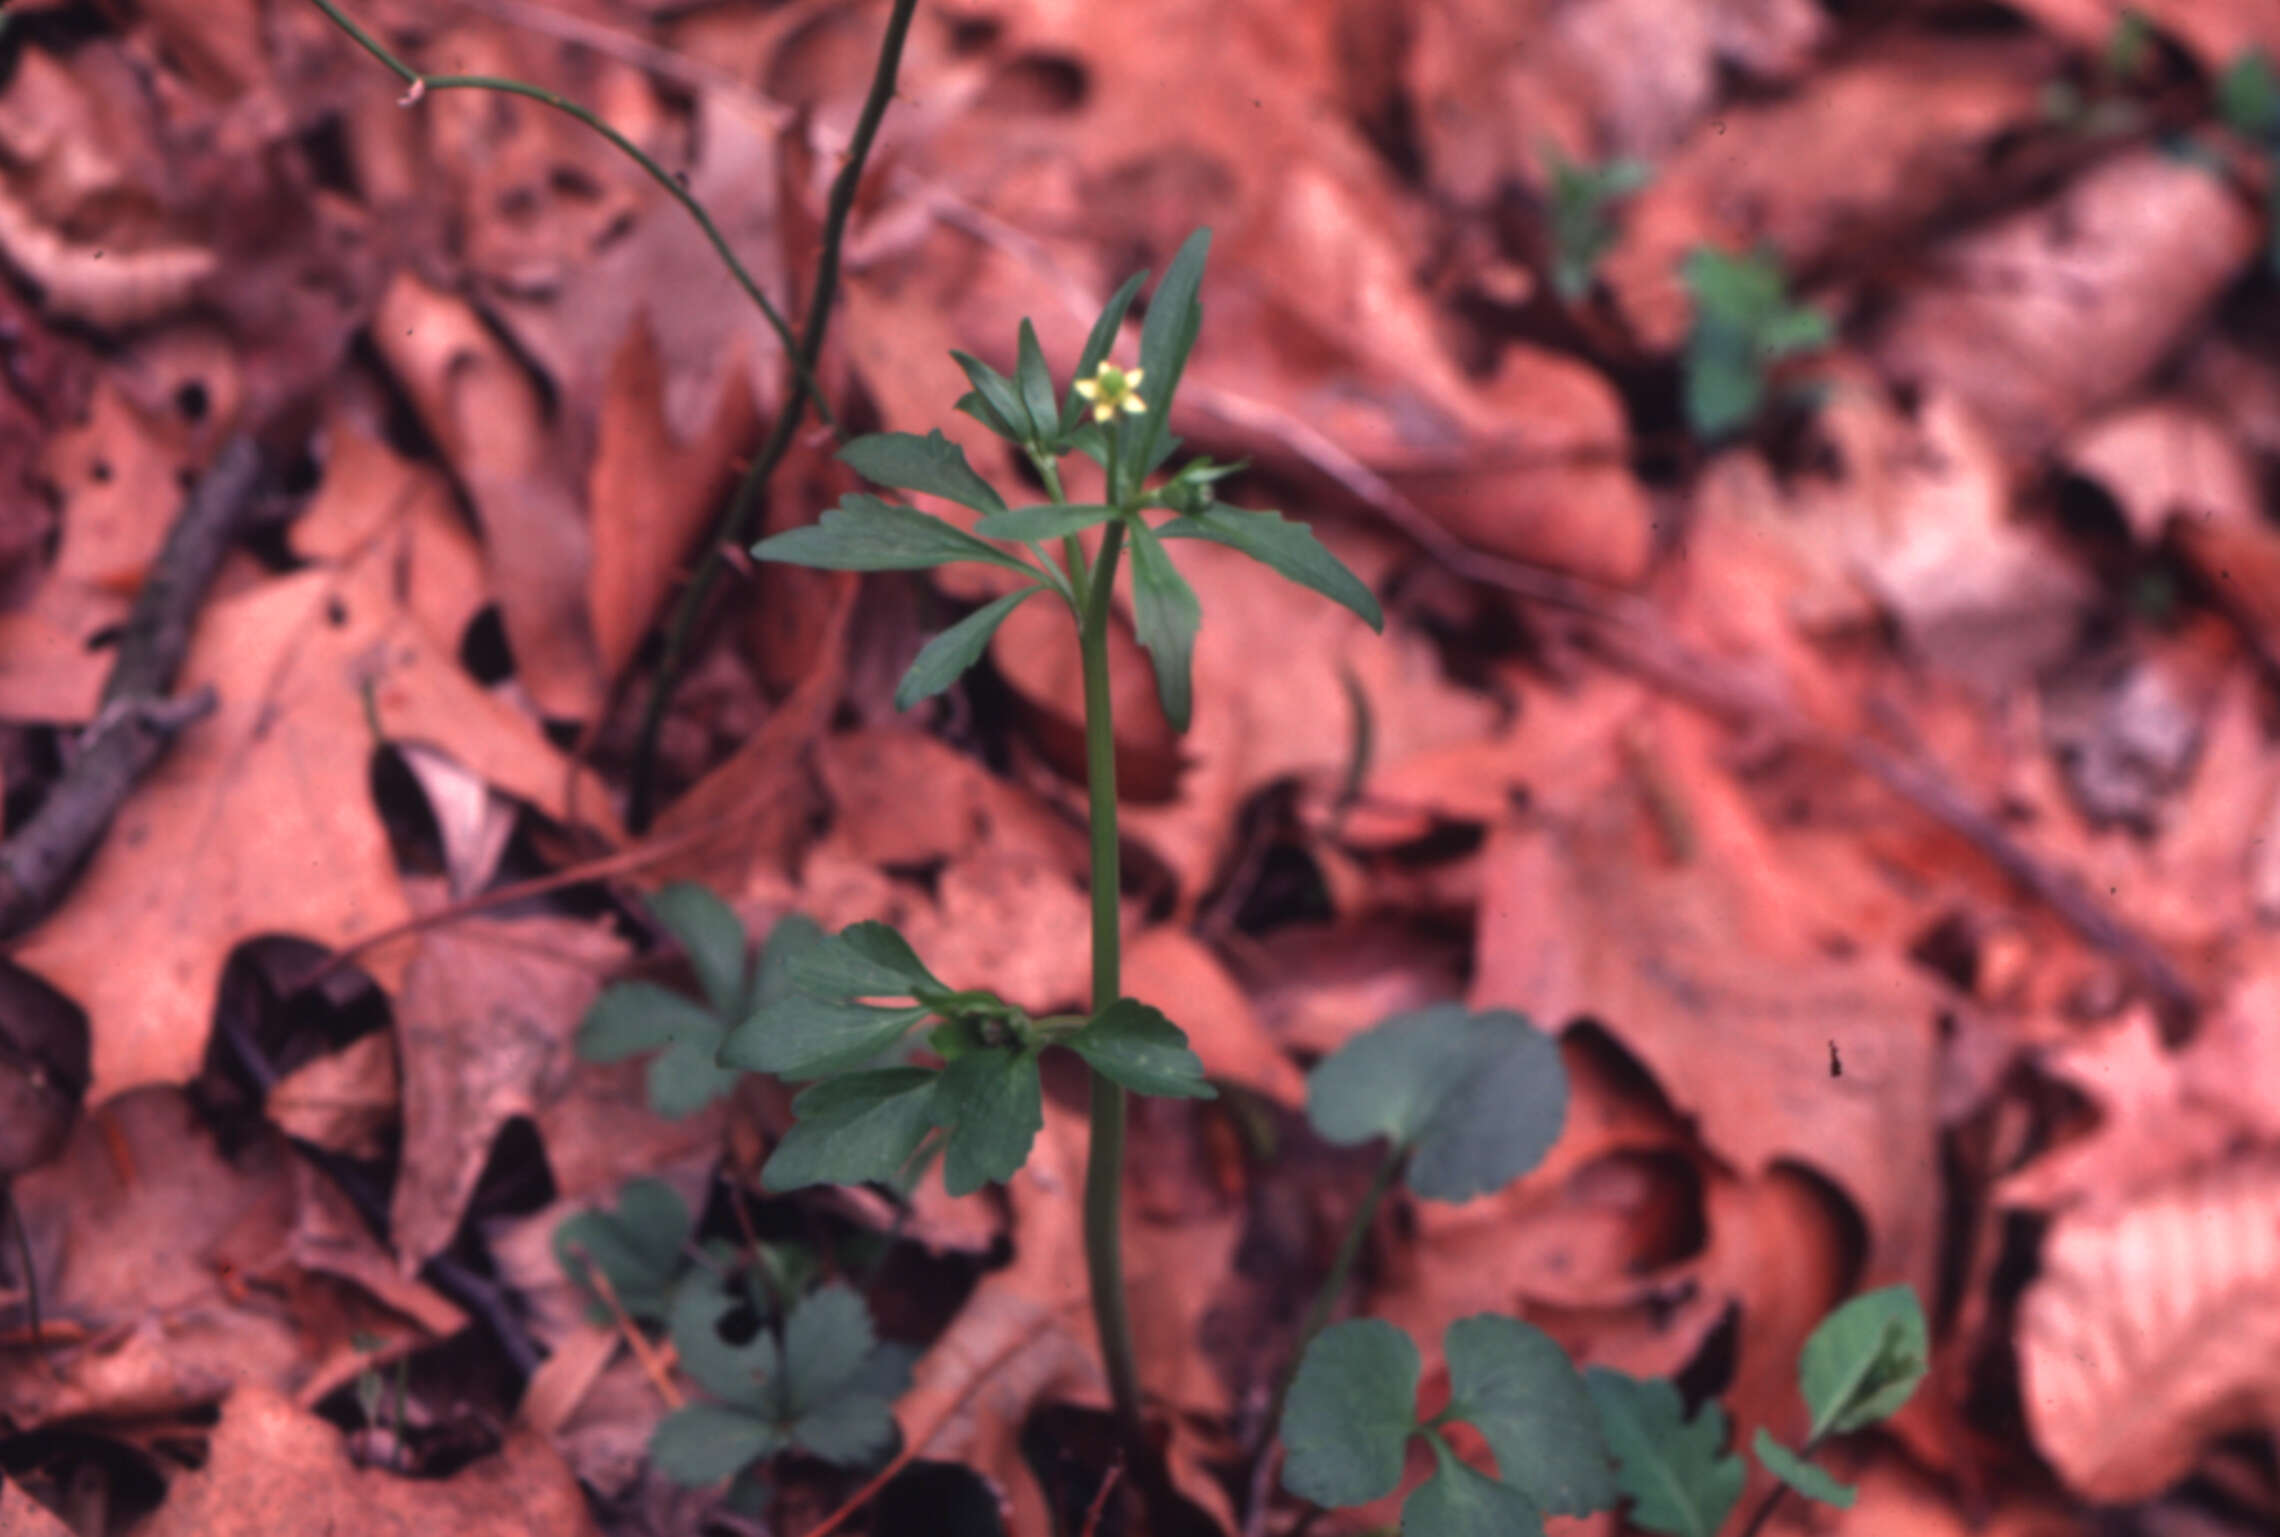
[[[1197,230],[1172,258],[1149,299],[1133,367],[1119,367],[1110,353],[1145,274],[1108,299],[1067,388],[1056,383],[1028,322],[1017,335],[1012,379],[978,358],[953,353],[971,385],[958,410],[1015,445],[1035,467],[1049,502],[1008,506],[939,431],[873,433],[848,442],[839,456],[878,486],[942,497],[978,513],[974,531],[914,506],[853,493],[819,522],[752,547],[762,561],[825,570],[926,570],[976,561],[1021,579],[919,650],[896,691],[903,707],[948,689],[980,659],[1005,616],[1031,597],[1053,593],[1067,607],[1085,691],[1090,1013],[1033,1019],[987,990],[942,983],[885,924],[855,924],[800,951],[791,962],[791,992],[746,1019],[720,1054],[727,1067],[814,1083],[793,1101],[798,1122],[762,1170],[764,1184],[782,1190],[819,1181],[907,1179],[939,1152],[944,1184],[953,1193],[1008,1179],[1021,1168],[1042,1124],[1040,1056],[1058,1047],[1083,1058],[1092,1076],[1088,1282],[1110,1400],[1126,1446],[1142,1457],[1147,1441],[1119,1252],[1124,1095],[1208,1097],[1213,1090],[1179,1026],[1122,994],[1108,686],[1117,572],[1129,547],[1133,634],[1154,664],[1156,693],[1174,730],[1186,730],[1192,714],[1190,659],[1202,604],[1172,563],[1172,540],[1227,545],[1345,604],[1373,627],[1384,625],[1377,597],[1306,524],[1218,499],[1218,483],[1238,465],[1195,458],[1151,486],[1179,452],[1167,424],[1204,324],[1199,287],[1208,251],[1211,233]],[[1065,495],[1060,465],[1069,454],[1101,467],[1099,502],[1069,502]],[[910,1035],[919,1026],[930,1026],[923,1044],[933,1060],[912,1056]]]

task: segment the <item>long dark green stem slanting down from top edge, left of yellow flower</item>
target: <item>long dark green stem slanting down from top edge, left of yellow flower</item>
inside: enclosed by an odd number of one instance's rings
[[[675,604],[673,618],[666,625],[666,650],[657,661],[657,680],[650,684],[650,705],[641,716],[641,737],[634,743],[627,826],[636,832],[648,828],[650,821],[657,732],[663,727],[666,709],[673,705],[673,691],[679,686],[682,666],[689,657],[689,645],[695,639],[698,618],[705,613],[705,602],[711,597],[714,586],[718,586],[720,575],[727,570],[727,563],[720,559],[720,547],[741,545],[750,538],[752,513],[759,506],[759,488],[768,483],[768,477],[775,474],[775,465],[791,447],[791,436],[798,431],[800,415],[807,410],[809,399],[816,404],[819,415],[823,415],[825,422],[830,420],[830,415],[823,413],[823,395],[816,390],[814,365],[823,356],[823,333],[830,326],[832,299],[839,292],[839,246],[846,237],[848,214],[855,210],[855,192],[862,185],[862,169],[871,157],[871,144],[878,139],[878,125],[887,116],[887,103],[894,100],[894,78],[903,68],[903,39],[910,36],[910,18],[917,9],[919,0],[894,0],[894,9],[887,14],[887,30],[878,43],[878,66],[871,71],[871,93],[864,96],[862,116],[855,119],[855,137],[848,139],[846,164],[839,166],[839,176],[832,180],[832,196],[823,210],[823,244],[816,249],[816,283],[807,299],[807,324],[793,353],[791,395],[784,399],[782,408],[777,408],[775,426],[768,431],[768,442],[762,447],[759,458],[752,461],[743,483],[736,486],[736,497],[720,511],[720,520],[711,529],[711,538],[705,545],[695,577],[689,579],[686,588],[682,588],[682,600]]]

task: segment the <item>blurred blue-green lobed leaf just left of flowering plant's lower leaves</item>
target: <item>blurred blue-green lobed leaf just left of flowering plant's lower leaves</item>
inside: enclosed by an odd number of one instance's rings
[[[616,983],[586,1010],[577,1049],[593,1063],[654,1054],[650,1108],[679,1120],[736,1085],[736,1074],[720,1065],[720,1042],[755,1008],[784,994],[784,962],[798,946],[819,940],[821,930],[805,917],[789,914],[755,965],[743,924],[705,887],[668,885],[650,898],[650,908],[666,933],[679,940],[705,999],[686,999],[657,983]]]

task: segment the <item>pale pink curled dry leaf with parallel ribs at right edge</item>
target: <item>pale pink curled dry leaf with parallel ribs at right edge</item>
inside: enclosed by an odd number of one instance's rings
[[[2020,1302],[2034,1441],[2100,1503],[2159,1494],[2205,1441],[2280,1425],[2280,1163],[2239,1158],[2061,1215]]]

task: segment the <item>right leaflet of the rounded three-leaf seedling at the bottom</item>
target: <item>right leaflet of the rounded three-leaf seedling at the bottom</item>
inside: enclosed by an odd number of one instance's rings
[[[1587,1516],[1614,1505],[1591,1396],[1550,1334],[1496,1314],[1448,1325],[1450,1416],[1496,1453],[1496,1473],[1537,1510]]]

